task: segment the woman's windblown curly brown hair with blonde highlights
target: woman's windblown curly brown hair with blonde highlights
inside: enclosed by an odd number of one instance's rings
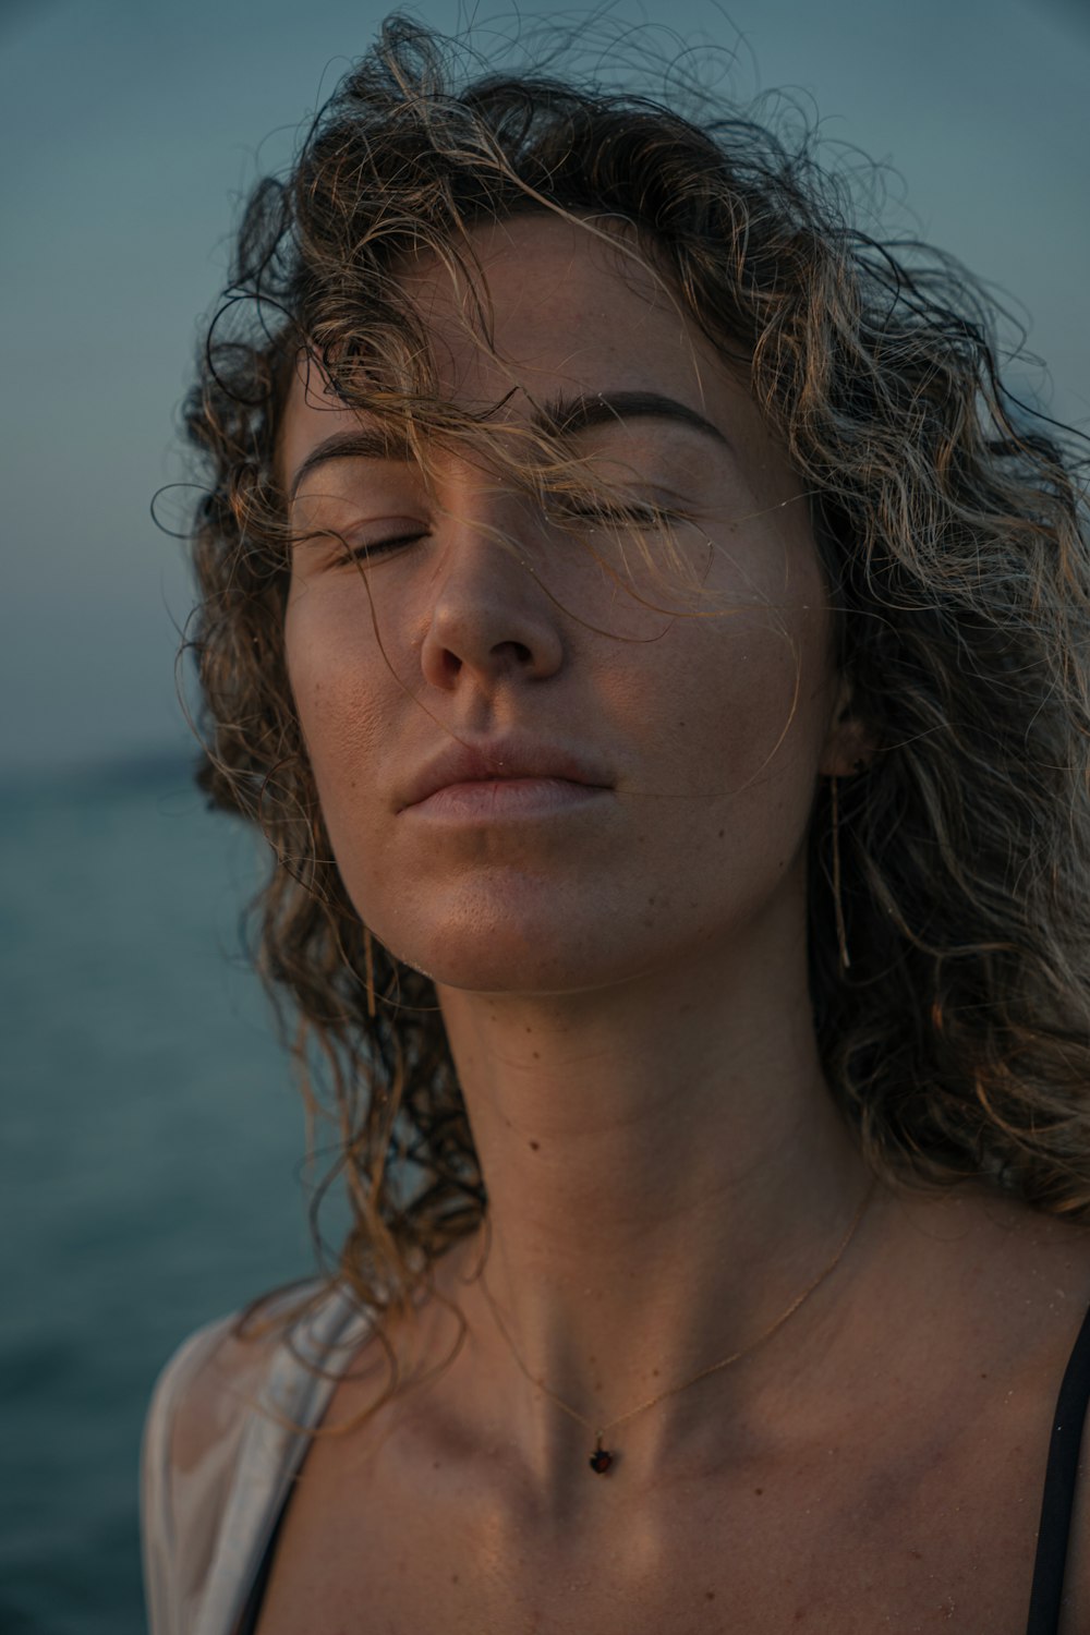
[[[423,252],[472,267],[471,229],[525,211],[636,231],[745,370],[809,497],[837,662],[879,746],[842,780],[837,824],[822,783],[809,835],[814,1022],[861,1151],[902,1184],[984,1177],[1087,1213],[1090,561],[1074,433],[1002,386],[981,286],[856,227],[806,134],[706,98],[688,118],[598,82],[466,77],[456,43],[394,15],[291,172],[253,190],[186,402],[204,476],[199,777],[271,845],[258,965],[309,1118],[337,1127],[327,1184],[340,1174],[351,1203],[330,1277],[389,1311],[487,1198],[435,988],[371,938],[324,831],[284,661],[278,433],[306,353],[422,459],[436,437],[485,435],[438,402],[395,270]]]

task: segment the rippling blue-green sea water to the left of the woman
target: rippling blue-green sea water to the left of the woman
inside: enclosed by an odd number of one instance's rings
[[[139,1635],[139,1439],[201,1323],[314,1269],[242,956],[260,860],[183,762],[0,791],[0,1630]]]

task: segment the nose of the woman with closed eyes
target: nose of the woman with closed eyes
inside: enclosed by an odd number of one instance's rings
[[[526,517],[507,523],[498,538],[495,517],[448,523],[420,651],[425,680],[444,692],[543,682],[564,664],[561,610],[536,577]]]

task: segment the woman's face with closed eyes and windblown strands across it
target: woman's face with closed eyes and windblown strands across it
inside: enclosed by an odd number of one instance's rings
[[[596,562],[464,455],[425,482],[301,366],[286,651],[346,891],[394,955],[492,992],[729,956],[768,914],[799,935],[815,778],[858,754],[799,484],[644,267],[551,216],[476,240],[503,365],[443,267],[404,276],[440,391],[521,425],[528,394],[590,399],[572,448],[696,518],[675,538],[703,592],[588,520]],[[371,546],[363,571],[322,530]]]

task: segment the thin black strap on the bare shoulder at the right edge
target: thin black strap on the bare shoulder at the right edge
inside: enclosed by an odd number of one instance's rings
[[[1082,1319],[1056,1400],[1026,1635],[1059,1635],[1059,1609],[1064,1594],[1067,1542],[1070,1539],[1070,1516],[1075,1507],[1079,1449],[1087,1401],[1090,1401],[1090,1311]]]

